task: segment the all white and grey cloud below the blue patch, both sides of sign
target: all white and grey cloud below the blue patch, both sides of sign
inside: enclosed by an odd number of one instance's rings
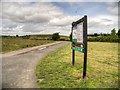
[[[110,32],[118,27],[115,10],[110,14],[88,16],[88,33]],[[3,3],[3,33],[6,35],[52,34],[69,35],[71,23],[82,16],[66,15],[61,8],[51,3]]]

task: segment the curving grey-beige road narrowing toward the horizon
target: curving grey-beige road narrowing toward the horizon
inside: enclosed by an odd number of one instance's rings
[[[38,88],[35,69],[41,58],[68,44],[44,45],[2,58],[2,88]]]

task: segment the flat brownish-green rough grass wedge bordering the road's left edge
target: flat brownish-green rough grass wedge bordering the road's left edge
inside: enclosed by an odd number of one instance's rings
[[[2,50],[1,52],[9,52],[26,47],[33,47],[52,43],[52,40],[30,40],[23,38],[2,38]]]

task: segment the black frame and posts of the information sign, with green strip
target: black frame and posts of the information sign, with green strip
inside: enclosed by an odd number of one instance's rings
[[[83,18],[79,19],[78,21],[72,23],[72,35],[73,35],[74,27],[76,27],[80,23],[83,23],[83,43],[78,43],[77,41],[74,41],[72,38],[72,65],[74,65],[75,63],[75,51],[83,52],[84,53],[83,78],[85,78],[86,69],[87,69],[87,16],[86,15]]]

